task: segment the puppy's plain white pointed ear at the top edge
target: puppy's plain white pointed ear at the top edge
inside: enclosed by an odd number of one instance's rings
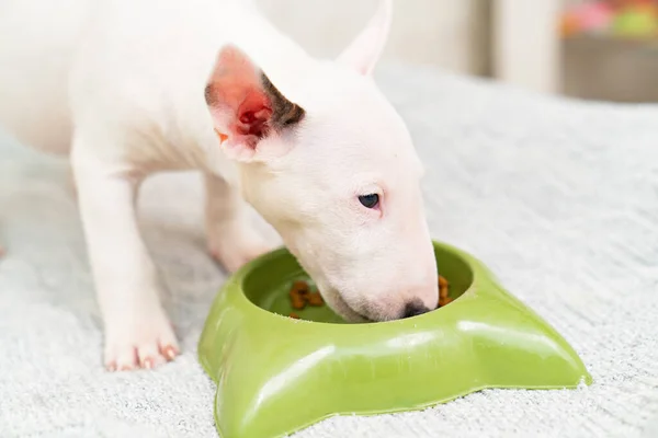
[[[379,0],[379,8],[361,34],[343,50],[338,61],[370,76],[382,56],[390,31],[393,0]]]

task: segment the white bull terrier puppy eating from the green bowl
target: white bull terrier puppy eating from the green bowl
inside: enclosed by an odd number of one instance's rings
[[[438,306],[438,274],[405,123],[375,85],[392,1],[336,60],[318,60],[238,0],[5,0],[0,124],[69,153],[105,366],[179,354],[135,196],[158,171],[200,170],[211,254],[269,251],[249,203],[328,306],[385,321]]]

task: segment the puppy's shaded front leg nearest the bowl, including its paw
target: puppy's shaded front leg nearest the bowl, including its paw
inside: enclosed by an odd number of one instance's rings
[[[246,204],[225,180],[205,174],[208,251],[232,273],[272,247],[249,223]]]

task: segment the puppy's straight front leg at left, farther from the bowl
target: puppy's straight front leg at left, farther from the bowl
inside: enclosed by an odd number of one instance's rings
[[[99,304],[105,324],[107,369],[151,368],[179,351],[160,304],[156,267],[135,212],[139,181],[124,163],[73,143],[71,163]]]

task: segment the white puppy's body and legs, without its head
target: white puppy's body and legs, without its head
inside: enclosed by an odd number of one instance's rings
[[[110,367],[136,365],[134,348],[145,366],[178,351],[155,268],[131,219],[128,198],[144,177],[206,171],[213,254],[232,270],[266,250],[246,227],[220,229],[222,214],[237,217],[239,208],[226,183],[239,181],[235,165],[212,153],[217,137],[203,92],[226,44],[249,49],[281,82],[290,78],[286,57],[304,55],[241,3],[16,0],[4,2],[0,14],[0,39],[14,43],[0,45],[0,64],[11,66],[0,70],[0,123],[37,149],[71,152]],[[118,184],[99,182],[99,174]],[[105,207],[93,206],[99,203]]]

